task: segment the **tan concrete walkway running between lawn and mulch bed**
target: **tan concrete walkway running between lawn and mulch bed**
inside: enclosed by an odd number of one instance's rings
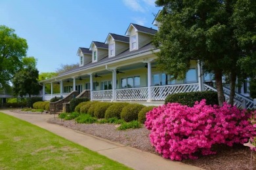
[[[51,114],[19,114],[9,110],[0,110],[0,112],[20,118],[35,124],[36,126],[42,127],[43,129],[47,129],[60,137],[64,137],[69,141],[80,144],[81,146],[85,146],[90,150],[98,152],[99,154],[102,154],[112,160],[123,163],[124,165],[127,165],[133,169],[200,169],[199,167],[186,165],[179,161],[166,160],[156,154],[142,152],[139,149],[114,143],[112,141],[88,135],[80,131],[75,131],[64,126],[49,124],[47,123],[47,120],[49,118],[53,118],[53,115]]]

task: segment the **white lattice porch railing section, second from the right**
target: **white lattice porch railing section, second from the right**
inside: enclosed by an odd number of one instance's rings
[[[148,99],[148,87],[123,88],[116,90],[117,101],[146,101]]]

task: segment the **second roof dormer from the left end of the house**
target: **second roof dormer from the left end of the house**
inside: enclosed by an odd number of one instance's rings
[[[91,42],[91,46],[89,50],[92,51],[92,61],[95,63],[96,61],[100,61],[100,59],[108,56],[108,44],[103,42],[93,41]]]

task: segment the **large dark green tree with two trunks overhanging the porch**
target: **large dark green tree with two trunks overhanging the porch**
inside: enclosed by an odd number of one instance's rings
[[[205,72],[215,75],[219,105],[224,102],[222,76],[224,73],[230,76],[232,102],[234,82],[240,76],[238,60],[244,56],[245,49],[251,50],[248,45],[239,44],[239,37],[243,33],[238,28],[245,27],[249,33],[252,33],[252,29],[237,21],[239,14],[245,10],[255,14],[253,0],[246,0],[252,5],[250,9],[244,9],[242,2],[156,1],[156,5],[163,7],[158,17],[161,28],[154,38],[155,46],[160,48],[157,54],[160,69],[173,75],[173,78],[182,79],[186,76],[190,60],[200,60]]]

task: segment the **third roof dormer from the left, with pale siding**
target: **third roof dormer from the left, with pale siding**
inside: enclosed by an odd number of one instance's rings
[[[129,49],[129,37],[109,33],[105,41],[108,44],[108,57],[112,58]]]

